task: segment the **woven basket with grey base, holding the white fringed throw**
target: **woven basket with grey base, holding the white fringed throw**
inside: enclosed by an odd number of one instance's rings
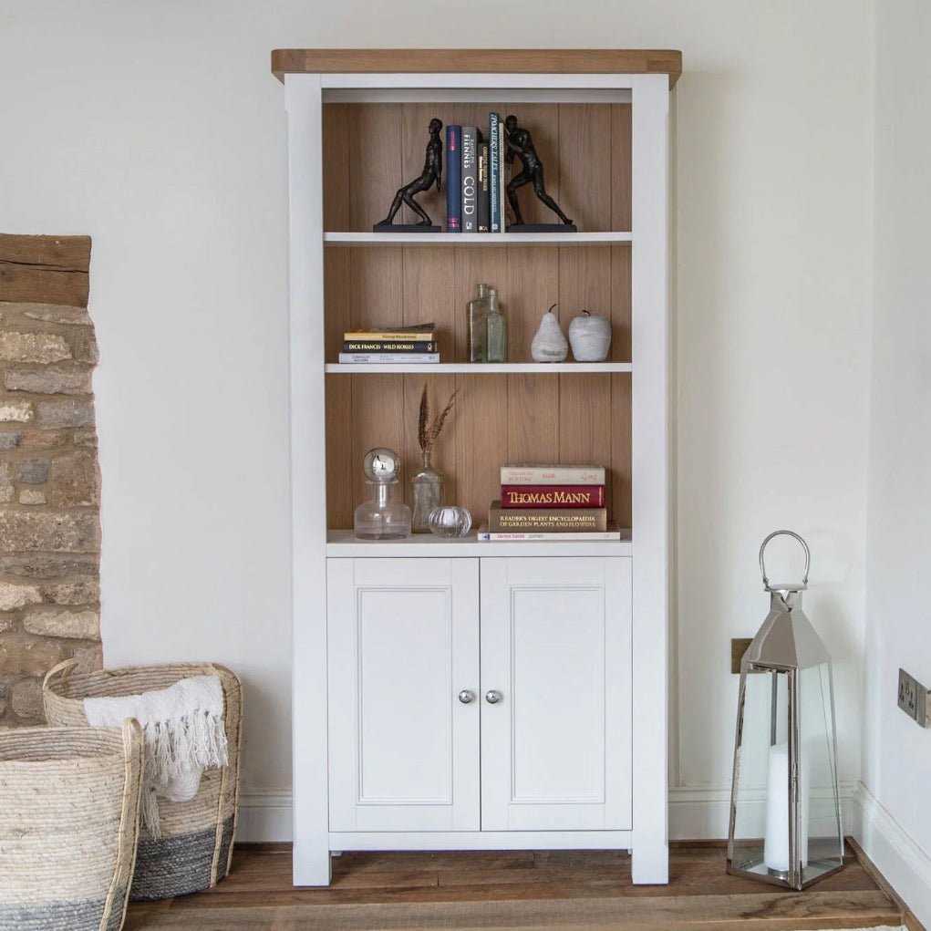
[[[213,663],[138,666],[75,674],[74,661],[50,669],[43,685],[49,724],[88,725],[84,699],[138,695],[168,688],[189,676],[217,676],[223,685],[223,723],[229,763],[207,769],[190,802],[158,800],[162,836],[142,826],[129,897],[172,898],[216,885],[229,871],[239,793],[242,686],[234,672]]]

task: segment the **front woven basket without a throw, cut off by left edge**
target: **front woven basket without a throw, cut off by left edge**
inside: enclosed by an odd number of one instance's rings
[[[141,789],[138,722],[0,734],[0,928],[119,931]]]

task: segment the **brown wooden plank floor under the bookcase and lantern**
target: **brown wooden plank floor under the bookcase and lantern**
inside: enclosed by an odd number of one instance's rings
[[[668,886],[630,883],[605,851],[344,854],[328,889],[294,889],[290,849],[237,849],[216,889],[130,906],[127,931],[749,931],[898,926],[882,877],[848,846],[844,869],[803,893],[724,872],[721,845],[679,844]],[[919,925],[911,924],[918,928]]]

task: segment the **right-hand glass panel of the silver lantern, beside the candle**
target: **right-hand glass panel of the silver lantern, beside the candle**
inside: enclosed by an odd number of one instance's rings
[[[830,664],[799,670],[799,797],[802,879],[810,883],[843,863]]]

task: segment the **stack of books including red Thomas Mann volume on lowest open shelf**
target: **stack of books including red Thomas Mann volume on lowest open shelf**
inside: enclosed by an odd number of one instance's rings
[[[602,466],[502,466],[479,540],[619,540],[608,520]]]

